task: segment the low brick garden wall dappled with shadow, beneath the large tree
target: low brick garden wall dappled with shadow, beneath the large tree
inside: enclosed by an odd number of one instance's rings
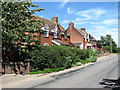
[[[30,61],[26,62],[3,62],[3,74],[25,74],[30,72]]]

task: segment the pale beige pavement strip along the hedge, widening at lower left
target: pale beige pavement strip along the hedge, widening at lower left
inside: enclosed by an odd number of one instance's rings
[[[108,56],[103,56],[97,59],[97,62],[88,63],[81,66],[75,66],[70,69],[65,69],[59,72],[52,72],[49,74],[34,74],[34,75],[16,75],[16,74],[5,74],[0,76],[2,78],[2,88],[34,88],[39,87],[39,85],[43,85],[49,82],[53,82],[58,77],[67,75],[69,73],[77,72],[86,67],[90,67],[91,65],[98,64],[101,62],[107,62],[110,58],[116,57],[118,55],[111,54]],[[21,85],[21,84],[25,85]],[[39,85],[38,85],[39,83]],[[57,86],[57,85],[56,85]],[[84,86],[84,85],[83,85]],[[47,86],[49,87],[49,86]],[[58,86],[59,87],[59,86]],[[77,86],[76,86],[77,87]],[[43,88],[43,87],[42,87]]]

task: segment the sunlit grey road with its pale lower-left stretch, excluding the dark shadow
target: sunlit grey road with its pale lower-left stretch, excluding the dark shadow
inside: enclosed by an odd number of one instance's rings
[[[3,88],[103,88],[104,85],[99,83],[102,79],[117,78],[118,55],[111,55],[73,72],[32,78],[3,85]]]

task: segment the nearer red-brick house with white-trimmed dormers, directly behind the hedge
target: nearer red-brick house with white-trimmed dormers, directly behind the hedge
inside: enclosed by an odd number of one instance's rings
[[[41,20],[45,23],[42,25],[41,30],[43,33],[40,34],[40,43],[43,46],[49,46],[52,44],[69,46],[70,35],[66,30],[58,23],[58,17],[53,16],[50,20],[36,16],[36,19]]]

